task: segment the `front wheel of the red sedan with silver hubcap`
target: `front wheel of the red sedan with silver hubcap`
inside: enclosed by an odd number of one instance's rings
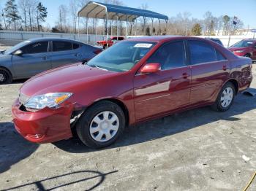
[[[113,144],[124,127],[125,117],[121,107],[111,101],[100,101],[80,116],[76,131],[83,144],[99,149]]]

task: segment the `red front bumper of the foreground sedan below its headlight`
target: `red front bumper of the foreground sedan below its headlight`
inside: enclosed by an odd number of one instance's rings
[[[20,109],[17,99],[12,105],[12,118],[15,129],[25,139],[35,143],[50,143],[72,137],[70,117],[73,108],[73,104],[67,104],[58,109],[25,112]]]

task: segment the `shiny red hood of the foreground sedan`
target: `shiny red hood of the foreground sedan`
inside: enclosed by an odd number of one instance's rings
[[[82,63],[64,66],[37,74],[20,87],[20,93],[27,96],[44,93],[72,92],[86,83],[102,80],[117,72],[92,68]],[[80,87],[79,87],[80,86]]]

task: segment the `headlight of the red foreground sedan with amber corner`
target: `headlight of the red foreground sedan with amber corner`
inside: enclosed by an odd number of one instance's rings
[[[46,93],[43,95],[36,95],[29,98],[24,106],[28,109],[44,109],[45,107],[54,108],[67,100],[72,93]]]

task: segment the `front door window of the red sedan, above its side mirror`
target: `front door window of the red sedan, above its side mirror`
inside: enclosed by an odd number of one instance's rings
[[[162,70],[186,66],[184,41],[170,42],[159,47],[147,63],[160,63]]]

